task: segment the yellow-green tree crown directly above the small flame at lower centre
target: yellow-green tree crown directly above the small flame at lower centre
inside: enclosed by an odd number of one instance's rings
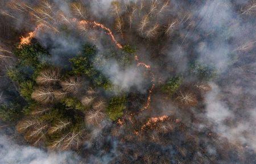
[[[123,115],[123,110],[126,109],[126,97],[113,97],[110,102],[109,106],[107,107],[107,114],[109,118],[112,120],[117,120]]]

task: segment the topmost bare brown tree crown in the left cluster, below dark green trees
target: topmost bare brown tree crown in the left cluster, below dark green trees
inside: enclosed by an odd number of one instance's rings
[[[60,80],[60,71],[59,69],[49,69],[40,72],[39,76],[36,78],[36,83],[40,85],[49,85],[55,84]]]

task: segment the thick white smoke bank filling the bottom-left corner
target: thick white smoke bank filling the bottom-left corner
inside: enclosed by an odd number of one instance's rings
[[[0,163],[79,163],[73,152],[47,152],[33,146],[18,145],[6,135],[0,135]]]

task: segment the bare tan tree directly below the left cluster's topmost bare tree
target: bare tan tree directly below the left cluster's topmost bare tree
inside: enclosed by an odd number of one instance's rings
[[[41,103],[51,103],[54,100],[53,90],[51,88],[38,88],[31,94],[31,98]]]

